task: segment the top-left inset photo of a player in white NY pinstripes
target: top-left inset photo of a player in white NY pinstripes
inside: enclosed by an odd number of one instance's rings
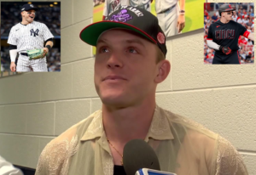
[[[1,75],[61,71],[61,2],[1,2]]]

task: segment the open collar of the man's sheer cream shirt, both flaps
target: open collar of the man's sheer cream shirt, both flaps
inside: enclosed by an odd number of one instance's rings
[[[105,135],[102,122],[102,110],[97,110],[91,116],[93,117],[93,120],[90,122],[89,127],[80,141],[86,141]],[[171,124],[167,120],[165,110],[162,110],[158,105],[156,105],[154,109],[154,116],[145,141],[148,142],[148,138],[154,138],[156,140],[174,139],[170,127]]]

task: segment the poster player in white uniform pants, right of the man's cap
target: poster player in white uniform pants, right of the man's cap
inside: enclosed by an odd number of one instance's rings
[[[180,33],[185,26],[185,0],[155,0],[155,11],[159,25],[166,37]]]

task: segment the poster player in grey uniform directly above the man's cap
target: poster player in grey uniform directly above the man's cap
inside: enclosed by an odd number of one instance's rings
[[[151,12],[151,2],[153,0],[106,0],[103,9],[103,19],[118,9],[120,6],[132,6],[137,8],[143,8]]]

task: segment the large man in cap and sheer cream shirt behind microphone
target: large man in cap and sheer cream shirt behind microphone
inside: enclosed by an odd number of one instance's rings
[[[36,175],[124,175],[123,149],[135,138],[152,146],[161,171],[247,175],[230,142],[155,104],[157,84],[171,67],[157,21],[147,10],[125,6],[81,31],[80,38],[96,46],[94,82],[102,110],[47,144]]]

